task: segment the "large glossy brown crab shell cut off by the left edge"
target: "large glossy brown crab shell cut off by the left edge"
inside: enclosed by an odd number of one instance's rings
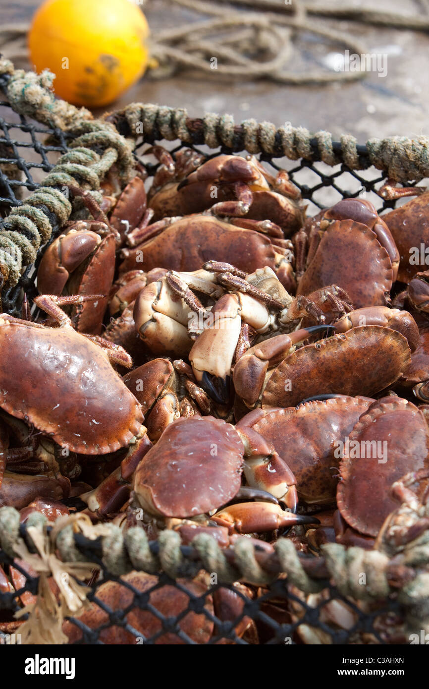
[[[0,407],[82,454],[127,446],[143,423],[101,347],[72,327],[0,317]]]

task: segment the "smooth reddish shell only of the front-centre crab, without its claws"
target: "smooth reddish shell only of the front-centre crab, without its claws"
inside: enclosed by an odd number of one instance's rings
[[[165,517],[195,517],[231,500],[241,485],[244,447],[233,426],[212,416],[167,426],[134,474],[143,508]]]

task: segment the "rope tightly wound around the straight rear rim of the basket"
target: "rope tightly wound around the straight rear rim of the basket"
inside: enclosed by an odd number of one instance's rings
[[[184,143],[205,144],[210,148],[246,149],[252,154],[286,156],[293,161],[299,158],[322,161],[331,167],[339,163],[350,169],[374,165],[399,182],[419,181],[429,176],[428,136],[370,138],[366,146],[359,146],[350,134],[343,134],[339,143],[335,143],[329,132],[311,134],[305,127],[292,127],[289,123],[275,127],[271,122],[248,119],[236,125],[231,115],[209,113],[203,119],[196,119],[190,118],[183,108],[152,103],[131,103],[109,114],[107,120],[114,122],[125,136],[133,138],[138,138],[143,129],[149,141],[180,138]]]

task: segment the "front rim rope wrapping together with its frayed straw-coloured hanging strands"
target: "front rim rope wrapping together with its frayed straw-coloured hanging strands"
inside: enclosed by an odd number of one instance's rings
[[[404,610],[406,629],[429,629],[429,573],[404,565],[401,553],[389,559],[380,551],[330,543],[322,546],[321,557],[300,557],[291,540],[280,538],[274,544],[275,554],[267,557],[245,536],[222,549],[207,533],[194,537],[190,546],[182,546],[177,532],[165,530],[157,542],[149,543],[143,528],[129,528],[124,533],[114,524],[93,525],[89,517],[79,513],[60,517],[53,526],[38,513],[32,513],[25,525],[19,520],[15,508],[0,508],[1,550],[11,560],[25,559],[40,574],[34,613],[31,606],[19,613],[31,613],[23,628],[28,642],[40,643],[43,637],[43,625],[34,615],[40,616],[43,611],[46,614],[45,608],[49,607],[43,601],[48,595],[47,577],[53,576],[62,587],[61,604],[50,613],[51,626],[61,630],[64,617],[79,614],[87,604],[86,593],[90,589],[81,585],[81,579],[101,564],[114,577],[138,570],[151,575],[165,572],[171,579],[193,578],[203,568],[211,575],[216,573],[220,585],[242,581],[269,586],[281,574],[305,595],[321,593],[331,585],[348,599],[378,605],[396,593]],[[417,562],[427,564],[426,533],[415,541]],[[408,562],[413,561],[413,548],[414,542],[406,546]],[[396,579],[402,580],[401,586],[390,584],[395,581],[395,572],[399,572]]]

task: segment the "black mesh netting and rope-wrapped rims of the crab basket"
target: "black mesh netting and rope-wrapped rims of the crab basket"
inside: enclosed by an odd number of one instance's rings
[[[33,99],[23,96],[25,80],[39,89]],[[63,187],[71,179],[97,192],[112,170],[124,186],[134,163],[145,165],[150,183],[157,165],[145,150],[154,143],[173,155],[183,146],[208,156],[257,154],[268,169],[288,170],[310,215],[358,196],[381,212],[395,206],[376,193],[388,176],[409,186],[427,174],[423,141],[357,146],[352,137],[333,142],[326,132],[312,137],[289,123],[281,130],[253,120],[235,125],[139,104],[92,121],[67,104],[59,112],[47,85],[3,65],[1,298],[14,316],[24,294],[30,302],[36,295],[43,250],[75,212]],[[201,535],[185,545],[167,530],[151,541],[141,528],[123,535],[113,524],[93,526],[79,520],[79,501],[72,504],[78,513],[54,526],[39,514],[20,524],[17,511],[0,509],[0,564],[8,577],[0,577],[3,643],[22,633],[23,642],[52,644],[398,644],[428,630],[424,534],[399,564],[391,553],[335,543],[298,553],[291,533],[274,552],[245,538],[222,551]]]

